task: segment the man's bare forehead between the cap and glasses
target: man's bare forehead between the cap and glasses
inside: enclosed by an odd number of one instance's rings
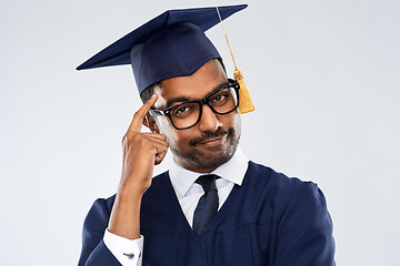
[[[178,98],[202,99],[227,81],[221,63],[218,60],[211,60],[191,75],[163,80],[161,85],[154,89],[159,95],[156,105],[157,108],[166,106],[168,101]]]

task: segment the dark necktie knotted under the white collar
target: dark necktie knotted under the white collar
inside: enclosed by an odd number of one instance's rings
[[[217,175],[201,175],[196,181],[204,190],[204,194],[200,197],[193,215],[193,231],[197,235],[204,229],[218,211],[217,178],[219,178]]]

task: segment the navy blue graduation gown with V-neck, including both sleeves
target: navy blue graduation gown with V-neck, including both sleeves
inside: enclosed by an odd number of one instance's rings
[[[114,196],[97,200],[83,225],[79,266],[120,265],[102,242]],[[249,162],[241,186],[207,228],[191,229],[168,172],[141,205],[147,266],[332,266],[334,242],[326,200],[311,182]]]

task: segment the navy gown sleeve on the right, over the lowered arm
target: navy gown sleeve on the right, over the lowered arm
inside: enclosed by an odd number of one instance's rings
[[[311,182],[293,195],[279,223],[274,266],[334,266],[332,222]]]

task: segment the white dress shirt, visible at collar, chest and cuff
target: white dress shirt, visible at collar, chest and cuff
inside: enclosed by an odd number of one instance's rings
[[[234,184],[241,185],[244,178],[246,171],[248,168],[249,160],[244,156],[240,147],[238,146],[232,158],[227,163],[216,168],[210,174],[216,174],[221,178],[216,181],[219,208],[227,201]],[[204,194],[201,185],[194,183],[194,181],[204,173],[196,173],[189,170],[180,167],[173,163],[169,170],[169,176],[172,187],[177,194],[179,204],[183,211],[184,216],[188,219],[190,226],[193,223],[194,209],[198,205],[200,197]],[[142,252],[143,252],[143,236],[139,239],[128,239],[112,234],[106,229],[103,242],[112,255],[119,260],[122,266],[141,266],[142,265]]]

